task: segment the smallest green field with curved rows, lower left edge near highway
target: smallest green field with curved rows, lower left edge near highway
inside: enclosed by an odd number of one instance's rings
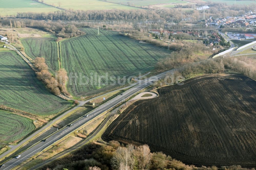
[[[13,142],[20,140],[35,129],[33,120],[0,110],[0,140]]]

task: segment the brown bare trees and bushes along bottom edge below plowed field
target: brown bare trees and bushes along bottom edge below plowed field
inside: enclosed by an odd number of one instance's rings
[[[217,170],[216,166],[196,167],[186,165],[163,152],[151,152],[148,145],[121,145],[118,141],[109,144],[89,143],[78,150],[56,159],[40,170]],[[222,166],[220,170],[248,170],[241,166]]]

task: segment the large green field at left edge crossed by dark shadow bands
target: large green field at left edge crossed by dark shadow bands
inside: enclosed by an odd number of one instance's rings
[[[0,52],[0,105],[40,116],[56,115],[71,106],[50,93],[14,51]]]

